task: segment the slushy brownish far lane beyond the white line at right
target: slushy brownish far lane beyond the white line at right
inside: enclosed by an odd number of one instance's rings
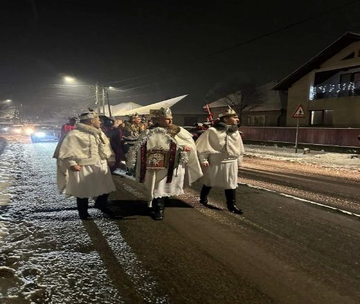
[[[245,159],[239,176],[242,184],[360,215],[360,170],[251,157]]]

